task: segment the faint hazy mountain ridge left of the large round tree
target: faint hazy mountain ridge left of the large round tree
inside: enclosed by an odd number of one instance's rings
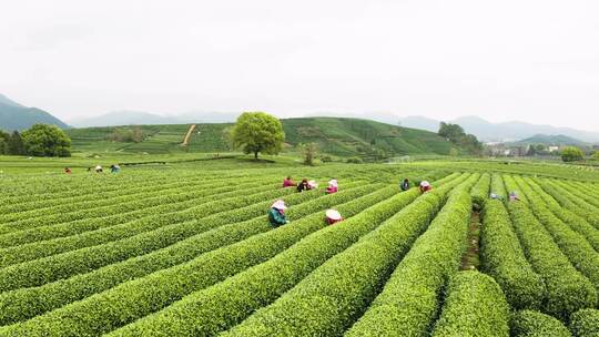
[[[184,123],[226,123],[233,122],[237,113],[187,112],[177,115],[161,115],[143,111],[113,111],[94,118],[73,119],[70,124],[77,127],[119,126],[119,125],[165,125]]]

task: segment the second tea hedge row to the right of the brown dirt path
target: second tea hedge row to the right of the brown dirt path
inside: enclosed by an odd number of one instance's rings
[[[528,261],[545,282],[544,310],[567,319],[578,309],[593,307],[595,287],[570,264],[526,203],[510,202],[508,210]]]

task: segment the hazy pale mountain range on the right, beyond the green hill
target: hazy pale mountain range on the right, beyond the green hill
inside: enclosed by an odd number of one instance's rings
[[[422,116],[405,118],[402,119],[402,126],[419,129],[423,127],[423,123],[420,122],[422,120],[428,119]],[[433,121],[434,120],[429,120],[428,123],[432,125]],[[437,130],[439,122],[440,121],[436,121]],[[485,142],[516,142],[537,134],[559,134],[580,140],[582,142],[599,142],[599,132],[580,131],[570,127],[557,127],[517,121],[491,123],[478,116],[464,116],[448,122],[461,125],[467,133],[471,133]],[[430,129],[425,130],[433,131]]]

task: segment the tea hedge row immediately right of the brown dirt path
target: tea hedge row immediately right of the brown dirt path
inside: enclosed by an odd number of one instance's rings
[[[485,204],[480,247],[483,270],[501,286],[510,306],[539,309],[546,296],[545,284],[526,261],[509,214],[500,201],[489,200]]]

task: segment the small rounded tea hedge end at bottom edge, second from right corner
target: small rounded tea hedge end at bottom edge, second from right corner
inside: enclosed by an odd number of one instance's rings
[[[571,337],[568,328],[557,318],[532,310],[514,313],[510,333],[514,337]]]

